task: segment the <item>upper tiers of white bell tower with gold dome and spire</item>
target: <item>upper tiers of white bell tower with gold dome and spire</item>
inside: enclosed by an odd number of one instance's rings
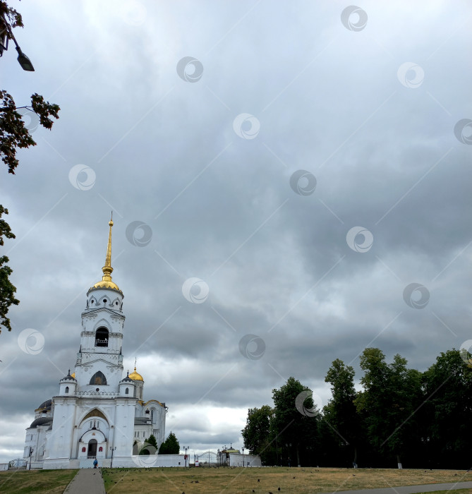
[[[87,306],[82,313],[80,350],[75,363],[79,392],[116,394],[123,372],[123,292],[111,279],[111,228],[102,280],[87,291]]]

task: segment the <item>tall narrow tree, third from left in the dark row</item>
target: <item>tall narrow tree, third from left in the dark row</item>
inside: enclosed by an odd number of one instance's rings
[[[357,392],[354,387],[354,369],[336,359],[329,368],[325,382],[331,384],[332,399],[323,408],[323,418],[337,442],[342,446],[351,445],[353,463],[358,460],[358,443],[363,438],[362,421],[357,413]]]

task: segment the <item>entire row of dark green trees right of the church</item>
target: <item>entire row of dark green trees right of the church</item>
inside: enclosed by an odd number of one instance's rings
[[[267,465],[469,468],[472,430],[470,354],[452,349],[420,372],[377,348],[361,355],[362,390],[340,359],[325,378],[322,408],[294,378],[272,390],[274,406],[248,410],[243,440]],[[472,360],[471,360],[472,361]]]

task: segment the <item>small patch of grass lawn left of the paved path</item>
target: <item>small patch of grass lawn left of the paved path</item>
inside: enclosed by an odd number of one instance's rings
[[[0,471],[0,493],[62,494],[77,470],[9,470]]]

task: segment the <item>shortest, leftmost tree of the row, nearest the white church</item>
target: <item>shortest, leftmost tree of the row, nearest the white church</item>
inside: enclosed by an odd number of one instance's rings
[[[241,430],[244,446],[250,454],[260,454],[265,464],[272,457],[271,421],[274,410],[269,405],[248,409],[246,426]]]

